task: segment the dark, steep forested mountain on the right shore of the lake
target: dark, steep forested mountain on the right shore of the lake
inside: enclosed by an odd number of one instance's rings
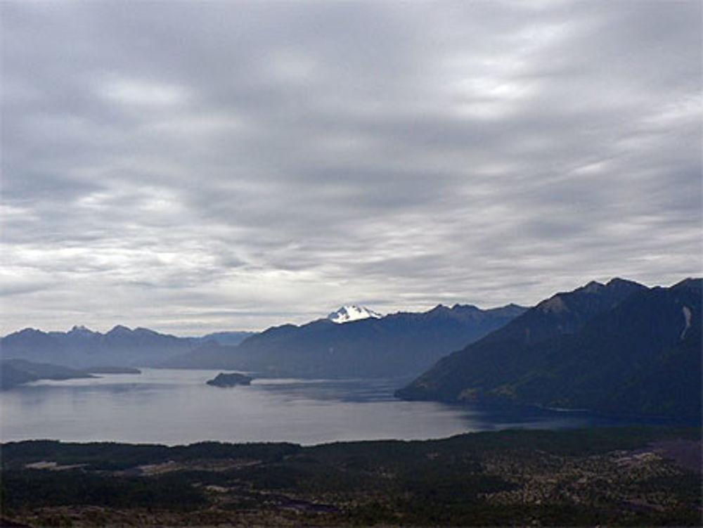
[[[700,279],[590,283],[441,359],[396,395],[699,416],[700,321]]]

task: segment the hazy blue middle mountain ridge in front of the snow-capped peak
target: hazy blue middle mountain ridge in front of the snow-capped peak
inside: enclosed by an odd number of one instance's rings
[[[344,324],[320,319],[269,328],[238,347],[205,345],[164,366],[297,377],[413,375],[524,310],[514,304],[490,310],[457,304]]]

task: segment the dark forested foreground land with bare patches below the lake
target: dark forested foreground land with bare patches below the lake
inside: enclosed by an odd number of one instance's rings
[[[425,442],[2,446],[30,526],[698,526],[700,431],[503,431]]]

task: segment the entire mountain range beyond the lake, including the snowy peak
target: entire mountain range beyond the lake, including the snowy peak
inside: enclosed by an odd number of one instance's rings
[[[196,338],[124,326],[105,334],[80,326],[65,333],[26,328],[0,341],[4,360],[25,363],[4,361],[0,370],[10,385],[44,377],[49,368],[64,376],[72,373],[60,366],[85,372],[98,365],[297,378],[415,376],[396,397],[699,420],[701,305],[700,278],[669,288],[614,278],[557,293],[530,309],[440,304],[423,313],[378,316],[344,307],[302,326],[254,334]]]

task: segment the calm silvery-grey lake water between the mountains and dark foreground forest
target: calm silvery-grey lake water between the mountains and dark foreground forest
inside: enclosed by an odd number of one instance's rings
[[[141,375],[41,381],[1,392],[0,440],[318,444],[623,423],[580,412],[394,399],[394,389],[407,380],[257,379],[248,387],[205,385],[217,373],[145,368]]]

